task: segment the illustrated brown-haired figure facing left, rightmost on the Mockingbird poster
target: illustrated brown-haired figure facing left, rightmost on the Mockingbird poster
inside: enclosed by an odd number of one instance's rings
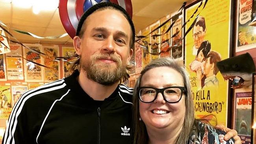
[[[216,78],[216,74],[219,72],[217,67],[217,62],[221,61],[221,55],[218,52],[211,51],[206,57],[204,63],[204,75],[206,79],[204,80],[204,87],[219,87],[219,80]]]

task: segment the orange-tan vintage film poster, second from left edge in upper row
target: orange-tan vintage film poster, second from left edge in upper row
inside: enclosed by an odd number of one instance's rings
[[[11,52],[6,54],[6,72],[8,80],[23,80],[22,46],[10,44]]]

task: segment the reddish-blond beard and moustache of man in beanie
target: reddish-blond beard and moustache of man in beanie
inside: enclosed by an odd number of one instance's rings
[[[108,63],[96,64],[97,60],[108,57],[117,64],[116,68],[113,68],[113,65]],[[122,66],[121,59],[113,54],[95,54],[85,61],[81,57],[80,64],[81,68],[86,72],[88,79],[102,85],[112,85],[127,75],[126,68]]]

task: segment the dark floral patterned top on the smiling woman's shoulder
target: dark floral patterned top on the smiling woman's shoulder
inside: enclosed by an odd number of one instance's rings
[[[214,129],[208,124],[198,122],[197,130],[197,137],[194,130],[187,144],[234,144],[234,139],[224,140],[224,131]]]

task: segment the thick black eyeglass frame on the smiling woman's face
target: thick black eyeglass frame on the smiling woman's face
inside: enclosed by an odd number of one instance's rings
[[[144,102],[142,99],[141,99],[141,94],[140,94],[140,90],[141,89],[154,89],[154,90],[156,90],[156,95],[155,95],[155,98],[154,98],[154,100],[152,100],[151,102]],[[178,88],[178,89],[180,89],[181,90],[181,96],[180,96],[180,99],[178,100],[178,101],[176,101],[176,102],[168,102],[167,100],[166,100],[166,98],[165,98],[165,95],[163,94],[163,92],[166,90],[166,89],[170,89],[170,88]],[[155,100],[156,100],[156,98],[157,98],[157,95],[158,95],[158,93],[159,92],[161,92],[161,94],[162,94],[162,96],[163,96],[163,99],[165,100],[165,102],[168,102],[168,103],[177,103],[177,102],[180,102],[180,100],[181,100],[181,98],[182,98],[182,94],[183,94],[183,92],[184,92],[184,94],[185,94],[185,96],[187,96],[187,89],[185,88],[185,87],[178,87],[178,86],[173,86],[173,87],[165,87],[165,88],[163,88],[163,89],[158,89],[158,88],[154,88],[154,87],[138,87],[137,88],[137,92],[138,92],[138,94],[139,94],[139,100],[141,101],[141,102],[143,102],[143,103],[152,103],[152,102],[154,102]]]

